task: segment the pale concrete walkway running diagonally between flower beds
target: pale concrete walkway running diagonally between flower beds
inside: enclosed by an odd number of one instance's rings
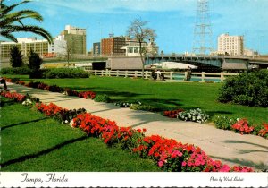
[[[213,125],[183,122],[151,112],[135,111],[116,107],[113,104],[97,103],[91,99],[65,96],[8,83],[11,91],[29,93],[42,102],[53,102],[68,109],[84,107],[88,113],[115,121],[119,126],[146,128],[147,135],[158,134],[182,143],[199,146],[210,157],[220,159],[230,166],[242,165],[268,169],[268,140],[260,136],[240,135],[216,129]]]

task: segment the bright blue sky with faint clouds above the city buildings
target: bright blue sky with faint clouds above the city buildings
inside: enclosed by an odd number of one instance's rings
[[[229,33],[244,36],[247,48],[268,54],[268,0],[209,0],[209,7],[215,50],[218,36]],[[43,22],[25,23],[37,24],[54,37],[68,24],[87,29],[88,51],[109,33],[125,36],[135,19],[155,30],[155,42],[164,54],[191,52],[194,44],[197,0],[33,0],[19,9],[38,11]],[[36,36],[28,32],[15,37]]]

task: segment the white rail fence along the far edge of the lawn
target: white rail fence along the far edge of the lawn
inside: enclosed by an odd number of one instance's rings
[[[114,76],[114,77],[132,77],[132,78],[141,78],[142,72],[141,71],[121,71],[121,70],[88,70],[86,71],[91,75],[98,75],[98,76]],[[170,72],[170,71],[162,71],[164,78],[166,80],[174,80],[174,81],[184,81],[187,72]],[[214,81],[214,82],[221,82],[224,81],[228,76],[238,75],[238,73],[191,73],[190,81]],[[145,79],[151,79],[152,73],[149,71],[144,72]],[[159,78],[158,78],[159,79]]]

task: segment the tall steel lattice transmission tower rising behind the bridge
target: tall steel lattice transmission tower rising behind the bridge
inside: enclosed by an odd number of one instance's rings
[[[209,15],[209,0],[197,0],[193,53],[209,55],[213,51],[213,32]]]

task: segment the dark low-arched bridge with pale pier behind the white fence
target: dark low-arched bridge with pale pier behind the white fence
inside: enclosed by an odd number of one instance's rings
[[[249,56],[185,56],[185,55],[163,55],[147,56],[146,64],[157,64],[162,62],[178,62],[197,65],[198,68],[210,67],[214,69],[248,69],[249,65],[257,65],[260,68],[268,67],[268,57]]]

